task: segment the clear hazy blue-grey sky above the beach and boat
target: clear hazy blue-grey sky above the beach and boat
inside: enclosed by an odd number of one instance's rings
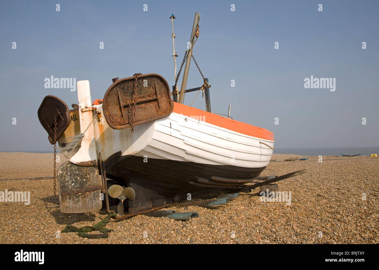
[[[92,101],[134,73],[174,85],[169,17],[179,70],[195,12],[193,55],[213,113],[231,105],[233,119],[274,132],[278,148],[379,146],[379,1],[0,0],[0,151],[52,152],[38,107],[46,95],[78,99],[45,78],[89,80]],[[335,78],[334,91],[305,88],[311,76]],[[201,85],[192,62],[187,89]],[[193,107],[205,110],[201,93]]]

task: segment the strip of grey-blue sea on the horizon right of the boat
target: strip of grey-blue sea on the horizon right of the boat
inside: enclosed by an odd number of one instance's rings
[[[301,156],[340,156],[340,155],[362,155],[379,156],[379,146],[374,147],[323,147],[323,148],[275,148],[274,154],[294,154]]]

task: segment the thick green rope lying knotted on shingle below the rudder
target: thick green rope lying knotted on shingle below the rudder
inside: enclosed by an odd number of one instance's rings
[[[72,226],[72,225],[67,225],[62,230],[62,233],[77,232],[78,236],[83,237],[83,238],[84,237],[91,238],[91,239],[108,238],[108,233],[110,231],[113,231],[113,230],[105,228],[105,225],[106,225],[106,223],[109,222],[111,217],[114,217],[114,216],[116,216],[116,213],[110,213],[107,217],[105,217],[105,219],[103,219],[102,221],[100,221],[99,223],[97,223],[96,225],[93,225],[93,226],[84,226],[81,228],[77,228],[77,227]],[[100,234],[88,234],[91,231],[100,231],[101,233]]]

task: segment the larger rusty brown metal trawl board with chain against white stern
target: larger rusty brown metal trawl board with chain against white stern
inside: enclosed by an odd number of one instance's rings
[[[105,120],[113,129],[130,127],[128,109],[132,111],[134,106],[134,82],[134,77],[116,80],[104,95]],[[138,75],[135,126],[164,118],[173,109],[170,88],[162,76],[155,73]]]

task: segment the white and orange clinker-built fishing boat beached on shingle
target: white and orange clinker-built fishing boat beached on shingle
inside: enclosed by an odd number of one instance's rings
[[[192,45],[199,18],[196,13]],[[185,53],[180,92],[158,74],[136,73],[112,79],[93,102],[89,81],[78,81],[72,109],[56,96],[44,98],[39,121],[69,159],[56,174],[61,212],[106,208],[134,215],[259,177],[273,154],[273,133],[211,113],[208,79],[186,89],[192,51]],[[177,81],[176,66],[174,75]],[[205,94],[207,111],[183,104],[194,90]]]

